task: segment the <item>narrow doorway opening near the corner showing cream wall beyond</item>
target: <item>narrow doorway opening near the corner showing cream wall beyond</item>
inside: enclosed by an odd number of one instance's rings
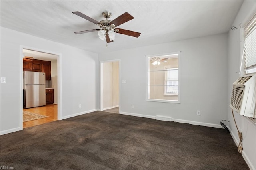
[[[100,110],[120,112],[120,60],[100,62]]]

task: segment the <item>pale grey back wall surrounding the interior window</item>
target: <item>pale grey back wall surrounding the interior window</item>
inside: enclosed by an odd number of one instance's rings
[[[227,119],[228,34],[144,46],[99,54],[99,60],[120,59],[120,111],[123,114],[220,127]],[[181,103],[146,101],[146,56],[181,52]],[[134,62],[136,61],[136,62]],[[134,108],[131,108],[134,105]],[[196,111],[201,110],[201,116]],[[179,119],[179,120],[178,120]]]

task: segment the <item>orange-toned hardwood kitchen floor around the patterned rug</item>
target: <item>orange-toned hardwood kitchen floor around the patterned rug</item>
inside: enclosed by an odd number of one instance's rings
[[[41,107],[33,107],[33,108],[23,109],[23,111],[28,111],[28,112],[32,112],[32,113],[38,113],[40,115],[49,116],[49,117],[42,118],[42,119],[36,119],[34,121],[23,122],[23,128],[32,127],[35,125],[41,125],[44,123],[58,120],[57,108],[58,108],[58,105],[50,104],[50,105],[41,106]]]

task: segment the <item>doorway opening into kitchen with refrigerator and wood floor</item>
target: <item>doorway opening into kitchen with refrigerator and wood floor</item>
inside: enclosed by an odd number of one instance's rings
[[[58,81],[58,63],[59,55],[43,52],[42,50],[34,50],[31,48],[22,47],[22,127],[32,127],[52,121],[56,121],[59,118],[58,99],[59,97],[59,81]],[[33,90],[28,93],[26,89],[24,74],[35,74],[44,75],[45,78],[42,81],[43,84],[39,91],[35,90],[37,87],[34,86]],[[33,96],[31,98],[30,96]],[[35,97],[38,96],[38,97]],[[38,98],[40,102],[38,102]],[[43,100],[43,102],[42,102]],[[28,104],[30,103],[30,104]],[[32,105],[31,105],[32,103]],[[33,105],[33,103],[35,103]],[[39,103],[39,104],[38,104]],[[60,103],[59,103],[60,104]]]

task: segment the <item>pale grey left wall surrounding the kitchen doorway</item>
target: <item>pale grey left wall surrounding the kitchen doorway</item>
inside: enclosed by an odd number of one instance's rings
[[[21,45],[60,55],[59,119],[99,108],[98,54],[1,27],[1,134],[22,129]]]

